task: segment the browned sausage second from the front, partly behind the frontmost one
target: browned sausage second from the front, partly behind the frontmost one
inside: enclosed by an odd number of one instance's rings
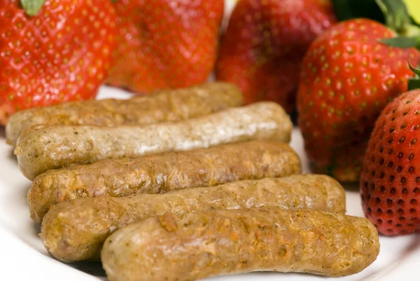
[[[75,199],[52,206],[45,214],[41,239],[48,252],[61,261],[97,259],[109,234],[134,221],[165,212],[265,206],[345,212],[345,193],[328,176],[292,175],[162,194]]]

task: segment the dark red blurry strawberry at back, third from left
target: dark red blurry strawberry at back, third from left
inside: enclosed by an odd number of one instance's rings
[[[235,83],[245,102],[295,109],[302,57],[335,23],[328,0],[239,0],[223,36],[216,78]]]

